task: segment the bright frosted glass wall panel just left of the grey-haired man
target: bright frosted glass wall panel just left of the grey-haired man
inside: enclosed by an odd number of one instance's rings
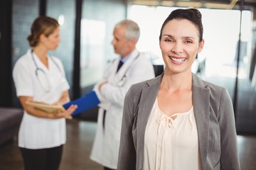
[[[107,62],[117,55],[111,45],[114,25],[127,17],[125,0],[83,0],[80,46],[80,87],[82,95],[102,78]],[[78,118],[97,120],[97,107]]]

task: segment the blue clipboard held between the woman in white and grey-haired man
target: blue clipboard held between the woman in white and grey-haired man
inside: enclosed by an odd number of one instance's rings
[[[97,97],[97,94],[95,93],[95,91],[90,91],[87,94],[85,94],[85,96],[75,99],[74,101],[70,101],[69,103],[65,103],[63,107],[65,109],[68,109],[72,104],[77,105],[78,108],[72,114],[72,116],[74,116],[74,115],[77,115],[78,113],[81,113],[82,111],[87,111],[90,108],[97,106],[99,103],[100,103],[100,100]]]

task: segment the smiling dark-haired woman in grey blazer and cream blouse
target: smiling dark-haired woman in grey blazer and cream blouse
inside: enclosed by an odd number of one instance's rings
[[[204,45],[200,11],[172,11],[159,45],[164,73],[125,97],[117,169],[240,169],[227,89],[191,72]]]

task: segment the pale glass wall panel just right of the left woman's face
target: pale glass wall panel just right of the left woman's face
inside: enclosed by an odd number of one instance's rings
[[[70,84],[70,89],[72,89],[73,55],[75,42],[75,1],[47,1],[46,15],[59,21],[63,18],[63,25],[60,26],[60,45],[56,51],[50,52],[50,54],[59,57],[63,62],[63,67],[65,68],[66,74],[65,76]]]

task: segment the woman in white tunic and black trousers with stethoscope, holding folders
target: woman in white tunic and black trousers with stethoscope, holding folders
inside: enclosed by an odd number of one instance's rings
[[[18,147],[26,170],[57,170],[66,142],[65,117],[77,106],[51,114],[29,106],[26,101],[48,104],[69,101],[70,86],[63,64],[57,57],[48,55],[60,42],[58,22],[48,16],[36,18],[28,42],[32,48],[17,60],[13,70],[16,95],[24,110]]]

